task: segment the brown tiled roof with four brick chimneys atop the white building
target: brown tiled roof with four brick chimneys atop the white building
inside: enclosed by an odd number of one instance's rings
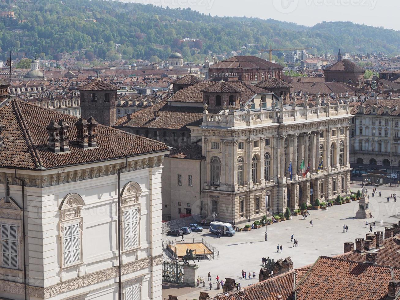
[[[70,152],[55,154],[48,150],[46,127],[50,120],[61,119],[70,127]],[[82,149],[76,141],[78,118],[60,114],[22,100],[12,100],[0,108],[0,122],[5,126],[4,146],[0,149],[0,167],[43,169],[136,156],[144,153],[166,151],[160,142],[135,136],[127,132],[98,125],[98,148]]]

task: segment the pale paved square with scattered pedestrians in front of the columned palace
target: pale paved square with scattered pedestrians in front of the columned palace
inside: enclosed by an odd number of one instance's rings
[[[400,202],[394,202],[387,198],[390,194],[396,192],[400,195],[400,188],[394,186],[377,187],[378,193],[372,197],[372,186],[368,186],[370,195],[370,210],[373,219],[368,219],[368,223],[375,221],[376,227],[373,231],[384,231],[384,226],[392,225],[400,220]],[[360,190],[360,185],[352,185],[353,191]],[[379,191],[382,197],[379,197]],[[213,288],[181,288],[178,290],[164,290],[163,297],[168,298],[168,294],[174,292],[180,299],[196,299],[200,291],[209,292],[210,296],[221,293],[222,290],[216,289],[216,276],[220,279],[226,277],[234,278],[240,282],[241,286],[247,286],[258,282],[258,272],[262,266],[261,258],[270,257],[275,261],[280,258],[290,256],[294,262],[294,268],[299,268],[312,264],[318,256],[334,256],[343,253],[344,242],[355,242],[356,238],[364,237],[370,228],[366,228],[366,219],[355,219],[354,216],[358,210],[358,201],[343,204],[341,206],[332,206],[329,210],[310,210],[307,220],[302,220],[302,216],[293,216],[293,220],[275,223],[267,226],[268,241],[264,241],[265,227],[251,230],[250,232],[236,232],[233,237],[222,236],[216,238],[210,234],[208,227],[203,232],[192,233],[187,238],[204,238],[209,244],[217,248],[220,252],[220,258],[216,260],[200,260],[200,276],[207,278],[208,272],[211,272]],[[260,215],[260,218],[262,215]],[[313,220],[313,227],[309,222]],[[381,223],[382,221],[382,223]],[[245,224],[251,224],[244,223]],[[348,232],[343,232],[343,225],[348,225]],[[293,248],[293,242],[290,241],[291,235],[298,240],[299,247]],[[164,236],[171,239],[171,237]],[[180,238],[179,238],[180,240]],[[282,244],[282,253],[276,252],[276,246]],[[255,279],[241,279],[241,271],[255,272]],[[206,287],[209,282],[206,282]],[[186,297],[186,298],[185,298]]]

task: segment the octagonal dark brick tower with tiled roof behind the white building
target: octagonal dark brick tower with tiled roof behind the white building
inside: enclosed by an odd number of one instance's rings
[[[106,126],[115,124],[118,86],[96,78],[88,84],[79,86],[78,90],[82,118],[86,120],[93,117]]]

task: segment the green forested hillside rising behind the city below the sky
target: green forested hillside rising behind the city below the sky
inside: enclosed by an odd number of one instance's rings
[[[212,17],[190,9],[99,0],[2,0],[0,8],[14,11],[18,21],[14,24],[3,19],[0,23],[2,60],[9,48],[46,58],[87,48],[85,55],[89,59],[117,59],[119,52],[129,60],[151,56],[166,59],[170,52],[177,51],[186,60],[197,62],[209,52],[231,52],[245,44],[256,46],[248,47],[244,54],[255,54],[269,45],[314,47],[311,53],[336,53],[338,48],[351,53],[400,53],[400,31],[350,22],[306,27],[276,20]],[[180,44],[182,38],[197,41],[189,47]],[[118,48],[115,44],[119,44]],[[157,49],[155,44],[164,48]],[[196,54],[193,47],[200,52]]]

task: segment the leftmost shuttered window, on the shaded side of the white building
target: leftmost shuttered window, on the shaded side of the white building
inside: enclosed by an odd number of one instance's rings
[[[1,224],[3,267],[18,269],[17,226]]]

